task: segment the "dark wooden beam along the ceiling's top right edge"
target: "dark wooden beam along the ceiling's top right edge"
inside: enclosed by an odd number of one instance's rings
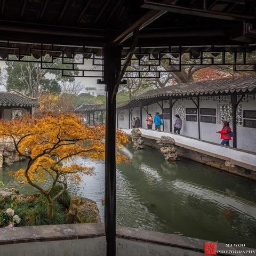
[[[223,12],[217,12],[217,11],[211,11],[211,10],[195,9],[191,7],[179,6],[174,4],[156,3],[156,2],[151,2],[150,0],[144,0],[144,3],[141,5],[141,7],[158,10],[158,11],[197,15],[202,17],[224,19],[224,20],[247,21],[247,20],[256,19],[255,15],[250,15],[250,14],[223,13]]]

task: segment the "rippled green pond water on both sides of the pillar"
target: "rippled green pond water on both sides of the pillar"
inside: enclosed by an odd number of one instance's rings
[[[157,150],[123,149],[131,164],[117,166],[117,224],[174,233],[223,243],[256,247],[256,183],[188,159],[168,163]],[[76,158],[94,166],[94,175],[79,185],[70,184],[73,195],[97,202],[104,218],[104,162]],[[31,193],[9,177],[25,163],[0,169],[5,186]]]

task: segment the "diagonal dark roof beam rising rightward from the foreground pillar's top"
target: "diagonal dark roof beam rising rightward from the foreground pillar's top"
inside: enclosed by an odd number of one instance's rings
[[[127,27],[123,30],[118,36],[113,39],[113,43],[119,44],[124,42],[126,39],[132,36],[132,33],[135,30],[141,30],[148,26],[151,22],[155,21],[159,17],[161,17],[166,11],[152,10],[147,12],[142,17],[138,18],[135,22],[131,24],[131,26]]]

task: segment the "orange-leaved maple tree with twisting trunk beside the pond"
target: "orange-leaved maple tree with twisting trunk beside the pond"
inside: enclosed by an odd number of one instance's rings
[[[47,217],[53,218],[54,201],[67,189],[68,180],[82,181],[82,175],[91,175],[92,167],[74,163],[74,157],[91,159],[105,157],[105,126],[90,127],[82,124],[81,118],[73,113],[47,113],[38,116],[22,116],[20,119],[0,120],[0,136],[12,138],[17,153],[27,159],[26,169],[15,173],[38,189],[47,199]],[[124,132],[117,130],[117,148],[127,142]],[[117,162],[126,157],[117,151]],[[42,182],[51,179],[50,187]],[[57,184],[62,190],[51,197]]]

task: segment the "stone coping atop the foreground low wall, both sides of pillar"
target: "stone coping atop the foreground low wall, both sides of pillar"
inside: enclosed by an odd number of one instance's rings
[[[117,238],[131,239],[137,242],[155,243],[165,246],[178,247],[190,251],[203,253],[202,239],[165,234],[139,228],[121,227],[116,229]],[[0,245],[31,242],[63,241],[72,239],[86,239],[105,236],[104,223],[81,223],[49,226],[30,226],[16,228],[0,228]],[[226,247],[218,243],[218,250],[255,250],[247,247]],[[245,256],[248,254],[219,254]],[[251,254],[252,255],[252,254]]]

